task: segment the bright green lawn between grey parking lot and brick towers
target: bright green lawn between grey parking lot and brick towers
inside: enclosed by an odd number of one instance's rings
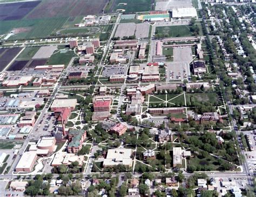
[[[67,66],[72,57],[76,57],[74,51],[67,51],[65,53],[57,52],[50,57],[46,65],[64,64]]]

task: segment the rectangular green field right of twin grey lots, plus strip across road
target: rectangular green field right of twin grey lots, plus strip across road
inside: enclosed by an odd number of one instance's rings
[[[201,25],[199,27],[199,35],[203,35]],[[176,25],[176,26],[158,26],[156,28],[156,37],[187,37],[193,36],[193,32],[190,31],[189,25]]]

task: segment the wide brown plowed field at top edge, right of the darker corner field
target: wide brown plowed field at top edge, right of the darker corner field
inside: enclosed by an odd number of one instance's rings
[[[37,6],[28,18],[96,15],[101,13],[107,0],[45,0]]]

